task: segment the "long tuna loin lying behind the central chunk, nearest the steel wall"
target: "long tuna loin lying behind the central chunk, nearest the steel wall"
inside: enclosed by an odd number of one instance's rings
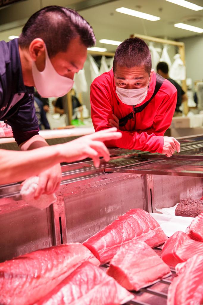
[[[167,236],[148,212],[133,209],[91,236],[83,245],[104,264],[114,257],[120,246],[133,239],[143,240],[153,248],[163,244]]]

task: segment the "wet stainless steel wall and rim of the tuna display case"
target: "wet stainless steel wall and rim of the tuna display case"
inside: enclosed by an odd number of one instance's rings
[[[111,160],[62,165],[57,202],[46,210],[26,205],[20,183],[0,187],[0,261],[65,242],[83,242],[131,208],[156,212],[202,196],[203,136],[181,139],[167,158],[111,149]]]

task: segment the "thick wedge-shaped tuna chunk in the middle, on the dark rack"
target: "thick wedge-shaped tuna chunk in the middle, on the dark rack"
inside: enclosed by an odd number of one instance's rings
[[[171,275],[170,268],[145,242],[134,239],[121,246],[107,274],[128,290],[136,290]]]

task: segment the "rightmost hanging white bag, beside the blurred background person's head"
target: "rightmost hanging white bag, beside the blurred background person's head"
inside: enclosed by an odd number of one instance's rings
[[[183,81],[186,79],[186,68],[183,61],[180,59],[180,54],[173,57],[174,62],[170,68],[169,75],[175,81]]]

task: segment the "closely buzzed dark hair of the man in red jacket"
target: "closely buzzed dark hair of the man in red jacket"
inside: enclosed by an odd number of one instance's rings
[[[132,68],[143,66],[145,71],[151,72],[151,53],[144,40],[134,37],[124,40],[116,49],[113,60],[113,71],[116,72],[116,65]]]

